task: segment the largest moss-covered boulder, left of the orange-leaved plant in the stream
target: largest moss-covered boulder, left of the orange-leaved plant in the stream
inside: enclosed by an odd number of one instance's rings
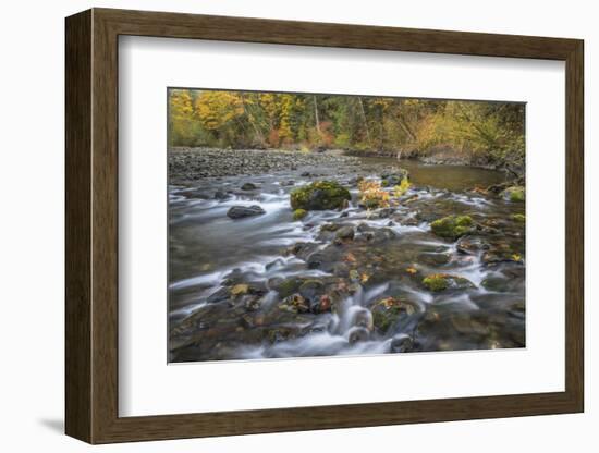
[[[317,181],[291,193],[291,207],[294,210],[340,209],[351,200],[350,191],[334,181]]]

